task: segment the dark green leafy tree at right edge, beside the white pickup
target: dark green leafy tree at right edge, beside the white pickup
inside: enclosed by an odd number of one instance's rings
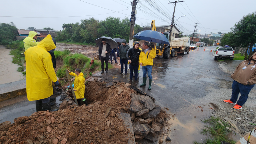
[[[231,28],[231,32],[224,34],[221,38],[221,44],[229,45],[235,48],[244,47],[246,51],[249,49],[249,55],[245,53],[244,60],[248,59],[253,55],[253,45],[256,42],[255,37],[256,31],[256,13],[250,13],[246,16],[243,16],[242,19],[234,24],[234,27]]]

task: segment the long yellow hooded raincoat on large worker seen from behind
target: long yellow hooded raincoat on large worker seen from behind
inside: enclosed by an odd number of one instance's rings
[[[53,95],[51,81],[56,82],[57,77],[51,61],[51,55],[47,51],[55,48],[51,35],[48,35],[37,46],[24,52],[27,99],[29,101],[44,99]]]

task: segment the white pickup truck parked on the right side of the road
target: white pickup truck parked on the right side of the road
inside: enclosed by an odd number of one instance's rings
[[[233,60],[234,54],[235,51],[232,47],[219,47],[215,52],[214,60],[217,60],[218,58],[229,58],[230,60]]]

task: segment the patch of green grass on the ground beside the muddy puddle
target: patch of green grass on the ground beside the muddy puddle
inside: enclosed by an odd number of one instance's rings
[[[221,121],[224,126],[222,126],[218,121]],[[203,143],[194,141],[194,144],[221,144],[222,141],[230,144],[236,143],[227,136],[231,132],[226,129],[226,127],[229,127],[229,124],[225,123],[220,118],[211,117],[209,119],[204,119],[202,122],[209,123],[211,126],[205,125],[200,133],[204,135],[209,134],[211,138],[205,140]]]

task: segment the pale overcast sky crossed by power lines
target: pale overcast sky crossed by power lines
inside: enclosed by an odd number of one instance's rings
[[[27,29],[33,26],[40,29],[43,27],[51,27],[59,31],[63,30],[62,24],[64,23],[80,22],[81,19],[89,19],[90,17],[94,17],[97,20],[105,20],[105,18],[109,16],[120,17],[120,19],[124,19],[125,16],[130,17],[130,1],[131,0],[1,0],[0,16],[23,17],[0,17],[0,23],[13,22],[18,29]],[[152,20],[155,20],[156,26],[169,25],[174,9],[173,4],[168,4],[169,1],[174,2],[174,0],[140,0],[137,5],[136,24],[144,26],[147,25],[147,23],[150,24]],[[205,34],[206,31],[209,33],[217,33],[219,31],[227,33],[230,31],[230,28],[234,26],[234,23],[238,22],[244,15],[256,11],[256,0],[184,1],[185,2],[177,3],[175,17],[186,16],[179,18],[175,23],[181,31],[189,34],[193,33],[195,23],[201,23],[197,27],[200,34]],[[152,8],[149,2],[151,2],[156,9]]]

